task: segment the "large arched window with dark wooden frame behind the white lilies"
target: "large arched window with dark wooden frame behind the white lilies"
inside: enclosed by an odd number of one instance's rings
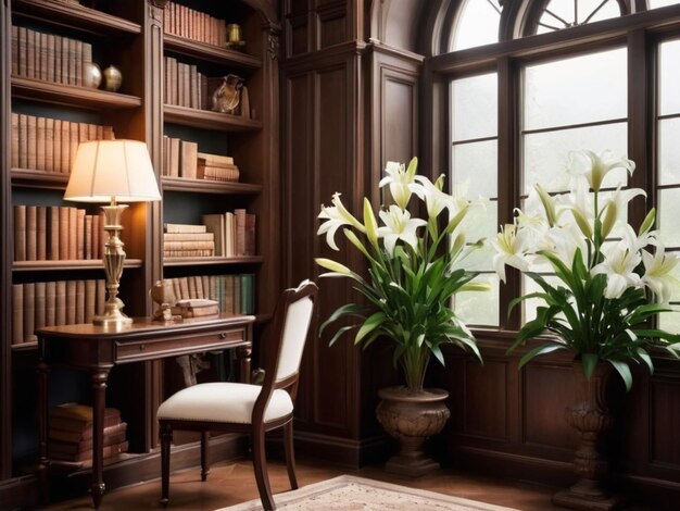
[[[654,12],[659,8],[663,15]],[[491,15],[475,24],[482,10]],[[629,211],[631,225],[655,207],[666,250],[680,252],[680,0],[500,0],[493,8],[468,0],[457,13],[454,34],[444,36],[453,51],[432,57],[429,67],[432,94],[449,86],[432,102],[450,105],[442,126],[449,182],[467,180],[471,195],[490,199],[470,239],[512,223],[533,184],[566,189],[558,177],[569,151],[609,149],[634,160],[637,171],[632,178],[608,176],[605,186],[646,191],[645,208],[640,199]],[[486,38],[471,35],[477,29]],[[495,43],[458,53],[477,40]],[[515,278],[504,287],[490,259],[480,258],[477,270],[494,292],[462,297],[454,307],[471,325],[517,328],[534,308],[525,303],[521,317],[508,319],[507,304],[533,290],[532,282]],[[680,304],[680,292],[671,304]],[[680,333],[678,316],[662,314],[662,326]]]

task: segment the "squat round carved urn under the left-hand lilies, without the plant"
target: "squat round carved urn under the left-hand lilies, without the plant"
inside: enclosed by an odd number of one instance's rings
[[[399,454],[388,460],[385,470],[418,477],[439,469],[439,463],[423,451],[423,444],[444,427],[451,412],[444,404],[449,392],[439,388],[414,391],[406,387],[378,390],[381,401],[376,416],[385,431],[400,444]]]

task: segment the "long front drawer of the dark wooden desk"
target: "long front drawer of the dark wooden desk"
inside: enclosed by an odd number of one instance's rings
[[[139,340],[134,342],[116,341],[117,363],[139,360],[177,357],[187,353],[226,349],[248,345],[245,328],[230,328],[207,334],[173,336],[166,339]]]

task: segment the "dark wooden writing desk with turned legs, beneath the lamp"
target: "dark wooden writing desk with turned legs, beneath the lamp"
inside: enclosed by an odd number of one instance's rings
[[[104,495],[103,425],[106,379],[116,364],[237,348],[242,382],[250,381],[254,316],[226,315],[163,324],[135,319],[119,331],[91,324],[49,326],[38,335],[38,399],[40,428],[39,475],[45,495],[49,477],[48,373],[52,367],[88,371],[92,384],[92,502],[99,508]]]

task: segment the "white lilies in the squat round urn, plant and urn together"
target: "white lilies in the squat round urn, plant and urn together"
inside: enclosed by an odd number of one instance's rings
[[[316,259],[330,271],[323,277],[350,278],[364,297],[362,302],[338,308],[322,325],[323,331],[340,319],[351,320],[337,329],[330,345],[349,333],[364,348],[380,337],[394,344],[393,361],[406,385],[379,391],[382,401],[377,416],[401,444],[400,454],[387,469],[412,476],[438,466],[425,457],[421,445],[441,431],[450,414],[443,403],[445,390],[424,389],[430,359],[443,364],[441,346],[452,344],[481,360],[475,337],[451,307],[452,297],[489,287],[474,283],[477,274],[463,266],[466,256],[481,246],[481,241],[468,244],[465,238],[465,219],[474,204],[444,192],[443,176],[432,183],[416,170],[416,158],[407,167],[387,164],[380,187],[389,187],[393,203],[380,209],[378,217],[367,198],[363,221],[345,209],[340,194],[333,196],[331,207],[322,205],[318,234],[326,235],[328,246],[339,250],[335,235],[343,227],[347,239],[364,256],[367,274],[364,269],[353,271],[330,259]],[[412,216],[412,209],[421,205],[426,219]]]

